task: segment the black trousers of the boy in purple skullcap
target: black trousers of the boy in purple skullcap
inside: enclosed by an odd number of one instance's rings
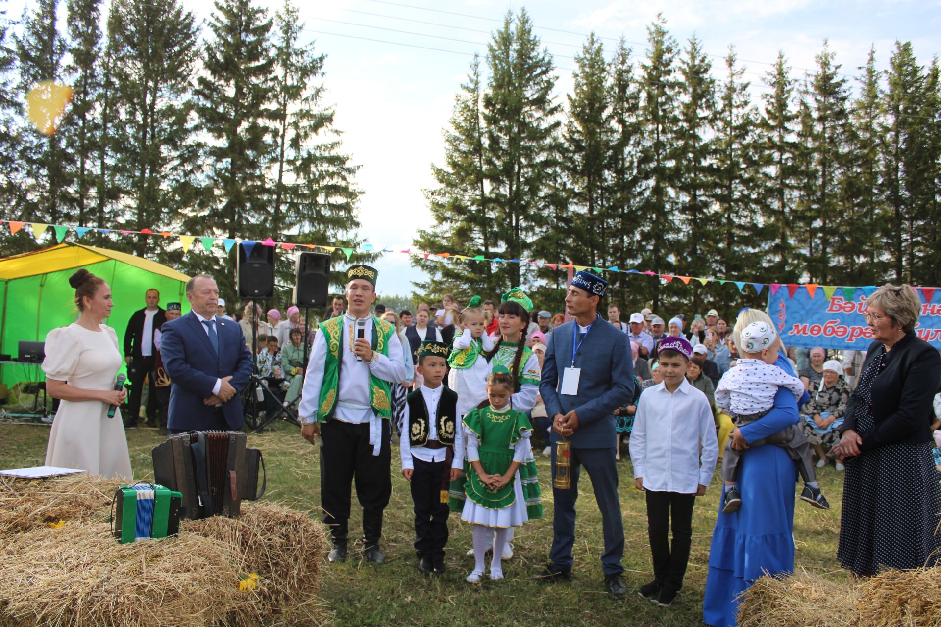
[[[693,541],[693,505],[695,494],[646,491],[647,533],[653,556],[654,580],[664,587],[679,590],[690,561]],[[673,529],[673,546],[669,531]]]

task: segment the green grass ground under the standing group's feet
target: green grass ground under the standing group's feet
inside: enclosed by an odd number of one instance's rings
[[[162,438],[153,430],[128,431],[131,463],[136,478],[152,472],[151,448]],[[0,424],[0,468],[40,465],[45,455],[46,427]],[[320,470],[318,447],[311,447],[295,428],[281,423],[271,432],[249,436],[249,444],[263,450],[268,473],[266,498],[311,513],[319,518]],[[351,546],[351,558],[327,569],[319,591],[329,603],[337,625],[700,625],[706,584],[710,538],[718,509],[718,472],[709,492],[697,499],[694,510],[693,551],[686,580],[678,600],[669,609],[654,606],[634,594],[651,578],[650,550],[646,538],[644,495],[633,488],[630,462],[618,463],[621,507],[626,540],[625,579],[631,588],[627,600],[616,602],[603,587],[598,556],[602,549],[601,517],[587,476],[579,485],[575,581],[572,584],[537,585],[526,578],[547,561],[552,541],[552,492],[548,458],[539,457],[540,484],[546,503],[542,520],[517,530],[516,556],[504,563],[506,579],[500,583],[470,586],[464,577],[473,558],[470,525],[451,517],[451,540],[443,576],[432,578],[415,570],[412,549],[411,498],[407,482],[399,473],[398,446],[393,444],[392,497],[386,509],[383,550],[386,563],[374,567],[359,559]],[[625,451],[626,452],[626,451]],[[625,456],[626,457],[626,456]],[[848,577],[836,561],[842,477],[834,467],[820,473],[821,488],[832,509],[812,509],[798,501],[794,516],[797,538],[797,568],[823,573],[835,580]],[[359,512],[354,497],[351,538],[359,537]],[[311,556],[323,559],[324,556]]]

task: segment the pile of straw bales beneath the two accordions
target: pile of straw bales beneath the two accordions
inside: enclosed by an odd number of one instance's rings
[[[327,534],[302,512],[242,504],[239,518],[183,521],[176,538],[119,544],[108,508],[118,481],[7,484],[0,516],[0,625],[322,625],[315,596]],[[6,510],[6,507],[4,508]],[[8,513],[8,512],[7,512]],[[60,528],[46,522],[65,520]],[[240,590],[248,573],[258,587]]]

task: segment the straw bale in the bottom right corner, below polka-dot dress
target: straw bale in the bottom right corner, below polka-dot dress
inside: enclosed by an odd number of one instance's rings
[[[885,571],[860,588],[860,624],[868,627],[941,625],[941,567]]]

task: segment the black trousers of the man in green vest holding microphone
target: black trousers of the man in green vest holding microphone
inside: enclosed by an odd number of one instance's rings
[[[353,482],[362,507],[362,536],[367,546],[377,546],[382,535],[382,512],[392,494],[391,433],[389,420],[382,424],[382,447],[373,455],[369,423],[359,425],[329,420],[320,426],[320,505],[324,524],[334,541],[346,540]],[[342,535],[340,535],[342,534]]]

